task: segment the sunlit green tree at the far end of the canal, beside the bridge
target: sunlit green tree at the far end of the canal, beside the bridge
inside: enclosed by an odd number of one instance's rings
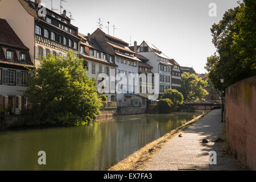
[[[207,81],[195,74],[184,72],[181,75],[181,93],[185,101],[204,100],[204,97],[208,95],[207,90],[204,89],[207,85]]]

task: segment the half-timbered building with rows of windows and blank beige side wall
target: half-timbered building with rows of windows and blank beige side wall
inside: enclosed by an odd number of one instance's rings
[[[31,61],[38,65],[40,56],[64,56],[68,51],[79,55],[78,28],[71,24],[66,15],[41,7],[36,0],[2,0],[0,1],[0,17],[5,18],[20,40],[30,51]],[[45,8],[46,14],[40,10]],[[15,10],[15,11],[13,11]]]

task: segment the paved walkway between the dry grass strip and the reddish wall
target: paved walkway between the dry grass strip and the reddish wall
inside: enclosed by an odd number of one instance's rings
[[[221,122],[221,110],[213,110],[186,130],[183,137],[176,135],[169,140],[146,170],[244,170],[242,164],[226,154],[221,137],[225,123]],[[209,143],[202,143],[207,139]],[[217,152],[217,165],[209,165],[209,152]]]

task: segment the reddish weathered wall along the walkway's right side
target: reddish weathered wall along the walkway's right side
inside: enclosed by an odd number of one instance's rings
[[[256,170],[256,76],[226,89],[226,137],[237,158]]]

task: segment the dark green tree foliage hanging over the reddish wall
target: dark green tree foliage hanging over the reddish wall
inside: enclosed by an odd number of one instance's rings
[[[244,2],[226,11],[222,20],[211,28],[217,53],[207,58],[205,69],[218,90],[221,90],[221,74],[225,78],[224,88],[256,75],[256,1]]]

